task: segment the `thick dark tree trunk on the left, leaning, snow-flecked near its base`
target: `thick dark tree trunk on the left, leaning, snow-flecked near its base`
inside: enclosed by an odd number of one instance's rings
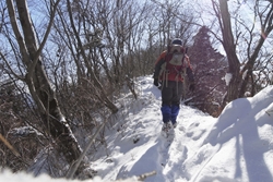
[[[7,0],[12,28],[16,36],[17,44],[20,45],[22,61],[27,68],[25,82],[34,101],[38,106],[38,111],[46,129],[48,130],[47,132],[56,139],[55,142],[57,142],[58,150],[63,153],[69,163],[72,163],[80,157],[82,149],[60,111],[55,92],[51,88],[41,65],[39,56],[43,47],[39,47],[39,49],[37,47],[36,35],[29,19],[26,0],[16,0],[15,2],[23,36],[17,26],[13,0]],[[51,16],[54,16],[52,14]],[[49,23],[48,32],[50,25],[51,22]]]

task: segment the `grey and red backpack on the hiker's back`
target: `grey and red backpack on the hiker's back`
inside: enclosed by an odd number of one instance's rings
[[[159,73],[163,83],[164,81],[183,82],[186,69],[189,65],[187,59],[185,59],[186,52],[187,49],[180,45],[173,45],[168,47],[165,56],[165,63],[162,65]]]

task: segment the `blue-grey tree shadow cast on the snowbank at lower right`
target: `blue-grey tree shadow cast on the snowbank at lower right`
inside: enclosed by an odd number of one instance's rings
[[[250,101],[246,98],[233,101],[225,108],[204,141],[204,143],[223,146],[224,143],[236,137],[235,179],[242,177],[241,161],[245,161],[249,182],[273,181],[263,158],[263,154],[270,149],[269,143],[260,138],[259,125],[254,118],[260,111],[258,107],[262,108],[259,104],[251,108]],[[241,113],[242,111],[246,112]]]

